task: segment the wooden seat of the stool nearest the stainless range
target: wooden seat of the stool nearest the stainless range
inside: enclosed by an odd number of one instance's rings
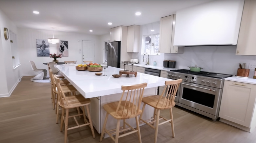
[[[143,97],[142,102],[146,103],[146,104],[148,104],[151,107],[154,107],[156,109],[170,109],[170,108],[175,106],[175,102],[174,102],[173,105],[171,105],[171,106],[162,107],[162,103],[163,103],[165,97],[162,97],[162,99],[160,99],[160,102],[157,105],[157,102],[158,102],[160,97],[161,97],[160,95],[152,95],[152,96]],[[169,103],[170,100],[165,100],[164,104],[166,104],[166,102]]]

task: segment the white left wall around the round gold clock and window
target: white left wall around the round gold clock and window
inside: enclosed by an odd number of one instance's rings
[[[17,27],[0,10],[0,60],[2,61],[0,63],[0,97],[10,96],[21,77],[20,67],[13,70],[10,42],[11,39],[9,38],[9,40],[5,40],[4,27],[8,28],[9,33],[10,31],[17,33]]]

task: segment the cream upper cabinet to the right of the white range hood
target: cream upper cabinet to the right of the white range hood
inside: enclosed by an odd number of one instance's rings
[[[245,0],[236,55],[256,55],[256,1]]]

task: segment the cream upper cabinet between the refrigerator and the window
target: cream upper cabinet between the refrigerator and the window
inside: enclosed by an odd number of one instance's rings
[[[127,52],[139,52],[140,26],[131,25],[127,29]]]

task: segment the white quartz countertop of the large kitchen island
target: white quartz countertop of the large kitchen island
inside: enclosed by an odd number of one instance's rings
[[[96,72],[91,71],[77,71],[75,65],[54,65],[60,70],[62,75],[82,94],[85,98],[92,98],[110,94],[121,93],[122,85],[134,85],[140,83],[148,83],[146,88],[164,86],[165,81],[172,79],[157,77],[145,73],[137,73],[134,75],[123,74],[119,78],[114,78],[112,74],[119,74],[121,69],[110,67],[106,69],[106,75],[95,75]]]

